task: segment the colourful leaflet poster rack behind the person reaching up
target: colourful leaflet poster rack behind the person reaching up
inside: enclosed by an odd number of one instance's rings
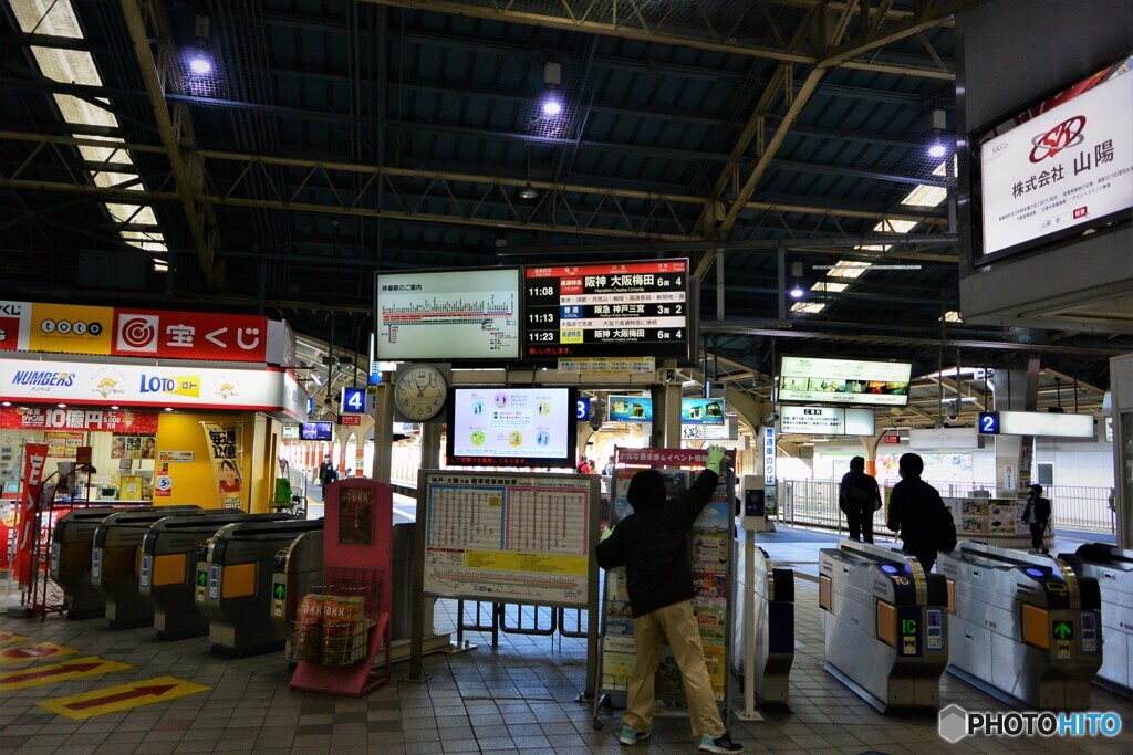
[[[621,451],[621,449],[619,449]],[[625,490],[629,481],[639,470],[619,467],[615,470],[614,521],[632,513]],[[700,473],[697,471],[662,469],[665,484],[672,496],[688,489]],[[734,557],[732,516],[729,490],[732,489],[732,473],[723,475],[715,492],[692,525],[689,558],[692,566],[692,584],[696,597],[692,610],[700,629],[705,664],[712,681],[713,696],[723,703],[727,694],[727,647],[729,616],[731,611],[732,561]],[[633,615],[625,587],[625,569],[606,572],[606,589],[603,599],[604,629],[602,638],[602,690],[610,694],[628,692],[629,672],[633,668]],[[681,671],[672,651],[666,645],[662,651],[661,666],[656,678],[657,698],[683,701],[684,689]]]

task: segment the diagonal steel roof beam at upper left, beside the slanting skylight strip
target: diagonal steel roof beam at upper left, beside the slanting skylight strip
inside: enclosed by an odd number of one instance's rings
[[[142,6],[146,12],[143,14]],[[213,264],[213,247],[218,243],[219,232],[214,217],[208,217],[208,213],[202,212],[197,207],[194,197],[194,185],[189,175],[189,166],[181,156],[182,147],[191,151],[194,145],[186,129],[178,128],[169,114],[165,104],[165,93],[162,86],[162,72],[157,68],[153,51],[150,49],[150,35],[146,28],[146,19],[160,28],[163,23],[159,20],[159,14],[164,14],[164,8],[159,7],[156,0],[122,0],[122,15],[126,17],[126,27],[129,32],[130,43],[134,46],[134,54],[137,57],[138,68],[142,70],[142,78],[145,81],[146,92],[150,95],[150,104],[153,109],[154,120],[157,123],[157,131],[161,135],[161,143],[164,147],[165,157],[177,185],[177,196],[185,211],[185,220],[189,225],[189,233],[193,237],[193,246],[197,251],[197,260],[204,272],[205,281],[210,290],[216,288],[216,271]],[[171,45],[171,40],[157,32],[156,42],[159,46]],[[188,139],[187,144],[184,144]]]

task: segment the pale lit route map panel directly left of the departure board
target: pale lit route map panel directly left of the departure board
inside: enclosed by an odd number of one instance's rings
[[[518,359],[519,268],[377,273],[374,357]]]

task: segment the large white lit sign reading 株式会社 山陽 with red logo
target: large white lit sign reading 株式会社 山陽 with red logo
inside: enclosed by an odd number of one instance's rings
[[[1076,235],[1133,207],[1133,57],[974,136],[976,264]]]

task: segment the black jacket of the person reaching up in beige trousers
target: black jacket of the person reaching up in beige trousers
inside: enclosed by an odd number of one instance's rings
[[[715,472],[705,470],[691,488],[655,508],[630,514],[598,543],[598,566],[625,567],[633,618],[691,600],[696,594],[688,535],[718,479]]]

